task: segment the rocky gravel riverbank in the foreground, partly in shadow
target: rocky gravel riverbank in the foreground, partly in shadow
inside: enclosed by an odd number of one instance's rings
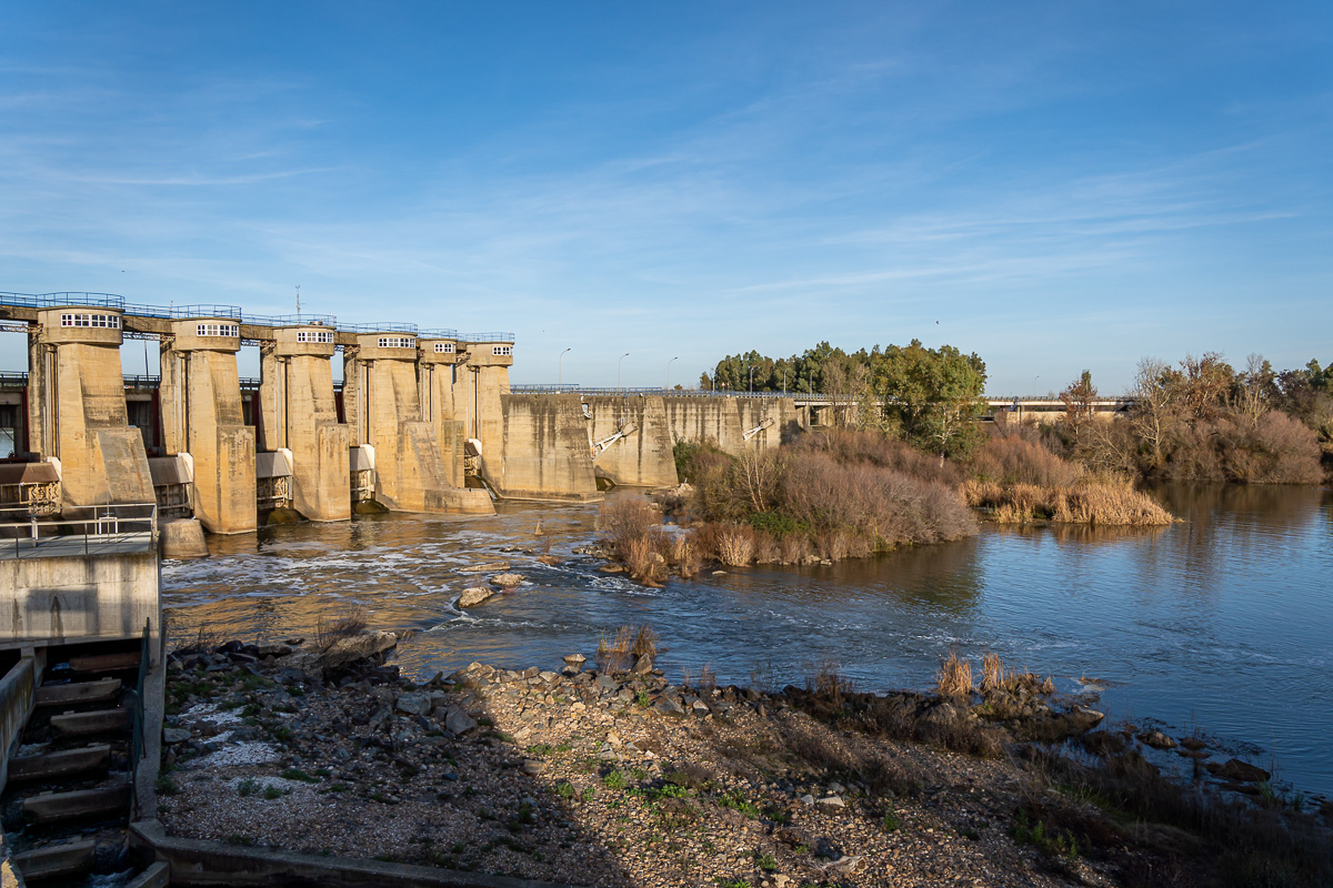
[[[1142,759],[1040,686],[681,687],[649,656],[415,683],[396,640],[173,654],[167,829],[577,885],[1213,884],[1206,839],[1144,840],[1056,788],[1077,780],[1052,744]]]

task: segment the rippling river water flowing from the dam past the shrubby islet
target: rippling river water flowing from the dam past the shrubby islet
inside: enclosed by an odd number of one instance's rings
[[[1333,796],[1333,491],[1176,486],[1185,521],[1150,530],[984,526],[968,541],[816,567],[754,567],[643,588],[596,564],[548,567],[596,537],[596,505],[501,503],[495,517],[373,515],[211,538],[213,556],[165,562],[179,640],[309,635],[360,604],[417,630],[404,670],[472,660],[555,668],[625,623],[651,624],[674,680],[801,683],[836,660],[861,690],[925,687],[950,648],[1104,687],[1114,719],[1222,748]],[[617,494],[619,495],[619,494]],[[535,535],[539,527],[541,537]],[[503,551],[536,550],[535,554]],[[457,567],[507,559],[528,582],[467,614]],[[477,578],[472,578],[476,580]]]

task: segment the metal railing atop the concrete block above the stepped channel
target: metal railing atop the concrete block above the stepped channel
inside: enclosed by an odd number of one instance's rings
[[[52,555],[93,554],[95,549],[127,543],[157,545],[157,503],[88,506],[88,518],[39,519],[28,509],[0,509],[0,558],[48,550]],[[23,515],[21,521],[16,521]]]

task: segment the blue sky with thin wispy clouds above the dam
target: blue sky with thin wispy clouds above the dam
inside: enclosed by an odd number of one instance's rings
[[[980,353],[997,394],[1084,367],[1120,390],[1144,355],[1328,362],[1330,25],[1313,1],[9,3],[0,290],[285,313],[301,285],[340,320],[512,330],[516,382],[565,347],[565,382],[628,351],[648,386],[676,355],[680,382],[913,337]]]

